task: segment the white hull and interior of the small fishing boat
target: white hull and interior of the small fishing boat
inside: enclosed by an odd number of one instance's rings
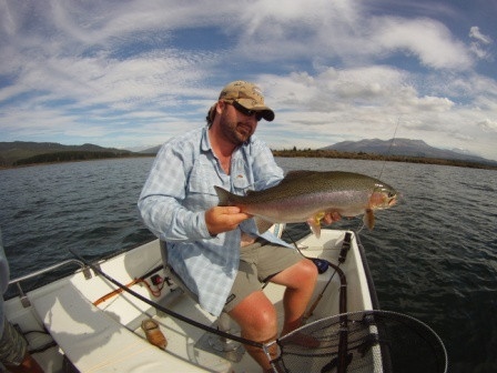
[[[306,256],[322,258],[338,264],[345,231],[323,230],[321,238],[307,235],[297,242]],[[374,292],[368,284],[366,270],[352,234],[351,250],[339,268],[347,279],[346,311],[374,309]],[[305,249],[304,249],[305,248]],[[164,278],[161,269],[159,241],[152,241],[136,249],[99,263],[102,272],[120,283],[129,284],[149,273]],[[156,269],[155,272],[150,273]],[[307,323],[336,315],[339,312],[339,276],[329,268],[320,274],[313,300],[326,288]],[[16,280],[13,282],[17,282]],[[49,334],[30,333],[31,349],[53,342],[55,345],[36,353],[34,359],[45,372],[64,372],[67,362],[80,372],[258,372],[258,366],[244,353],[243,347],[232,352],[216,352],[211,343],[212,335],[202,329],[179,321],[158,311],[135,296],[120,292],[109,295],[98,305],[93,303],[118,289],[102,275],[92,273],[87,279],[79,270],[74,274],[36,289],[27,299],[13,298],[6,302],[8,319],[22,331],[47,330]],[[215,325],[216,317],[204,312],[180,289],[164,285],[160,295],[154,295],[143,282],[130,286],[148,300],[172,310],[204,325]],[[283,288],[268,284],[264,292],[282,312]],[[374,295],[374,294],[373,294]],[[29,301],[29,305],[27,304]],[[23,304],[24,303],[24,304]],[[27,305],[27,306],[24,306]],[[146,341],[141,322],[153,317],[168,339],[162,351]],[[232,330],[236,333],[236,326]]]

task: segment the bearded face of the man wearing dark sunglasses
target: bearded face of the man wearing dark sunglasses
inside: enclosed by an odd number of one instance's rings
[[[234,145],[241,145],[254,134],[257,128],[257,114],[246,115],[232,104],[222,102],[223,111],[220,118],[221,131]]]

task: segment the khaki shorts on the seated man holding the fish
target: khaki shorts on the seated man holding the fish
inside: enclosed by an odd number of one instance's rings
[[[265,240],[240,249],[239,273],[223,311],[230,312],[246,296],[262,289],[273,275],[303,259],[296,250],[280,246]]]

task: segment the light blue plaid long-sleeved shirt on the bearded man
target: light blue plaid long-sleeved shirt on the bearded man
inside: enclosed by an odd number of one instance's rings
[[[214,155],[206,128],[164,143],[152,165],[138,205],[145,225],[168,242],[169,263],[201,306],[219,315],[236,276],[241,232],[257,235],[253,219],[239,229],[211,236],[205,211],[219,202],[214,185],[235,194],[277,184],[283,170],[271,150],[255,137],[232,154],[227,175]],[[287,245],[273,234],[262,236]]]

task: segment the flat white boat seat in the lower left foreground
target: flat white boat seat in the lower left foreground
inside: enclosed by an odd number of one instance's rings
[[[45,286],[30,301],[80,372],[161,372],[169,365],[168,353],[94,306],[70,280]]]

